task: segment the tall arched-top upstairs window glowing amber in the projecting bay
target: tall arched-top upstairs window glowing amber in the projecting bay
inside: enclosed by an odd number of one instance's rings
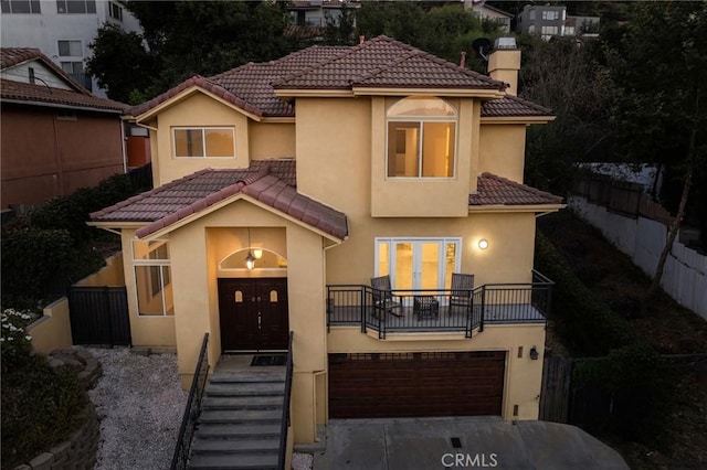
[[[390,107],[388,178],[452,178],[457,113],[440,98],[410,97]]]

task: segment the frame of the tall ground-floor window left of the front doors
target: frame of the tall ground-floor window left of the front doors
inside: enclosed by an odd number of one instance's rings
[[[152,247],[148,252],[148,258],[137,258],[135,255],[135,244],[136,243],[147,243],[157,242],[158,244]],[[165,247],[166,257],[152,257],[152,254],[157,254],[159,249]],[[172,282],[171,275],[171,259],[169,256],[169,244],[167,239],[154,239],[154,241],[141,241],[141,239],[133,239],[130,243],[131,256],[133,256],[133,271],[135,274],[135,305],[137,307],[137,316],[140,318],[175,318],[173,312],[173,295],[172,295],[172,311],[170,313],[168,305],[167,305],[167,287]],[[145,286],[140,286],[138,281],[137,269],[138,268],[147,268],[149,273],[148,278],[145,280]],[[155,274],[158,276],[155,276]],[[157,288],[157,290],[156,290]],[[162,312],[158,313],[143,313],[140,311],[140,292],[144,289],[146,296],[149,296],[149,300],[155,298],[157,295],[161,297],[161,306]]]

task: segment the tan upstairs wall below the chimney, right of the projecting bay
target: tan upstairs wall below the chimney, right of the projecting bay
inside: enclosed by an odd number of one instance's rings
[[[525,124],[482,124],[478,173],[489,172],[523,183]]]

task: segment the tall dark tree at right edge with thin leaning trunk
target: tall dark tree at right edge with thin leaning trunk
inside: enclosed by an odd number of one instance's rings
[[[621,41],[608,46],[606,57],[615,89],[611,118],[621,151],[682,173],[676,216],[646,292],[645,311],[659,286],[707,150],[707,3],[641,4]],[[703,221],[706,216],[701,215]]]

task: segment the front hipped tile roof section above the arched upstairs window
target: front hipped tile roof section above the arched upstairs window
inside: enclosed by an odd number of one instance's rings
[[[284,76],[275,88],[350,89],[352,86],[493,88],[505,84],[387,36]]]

